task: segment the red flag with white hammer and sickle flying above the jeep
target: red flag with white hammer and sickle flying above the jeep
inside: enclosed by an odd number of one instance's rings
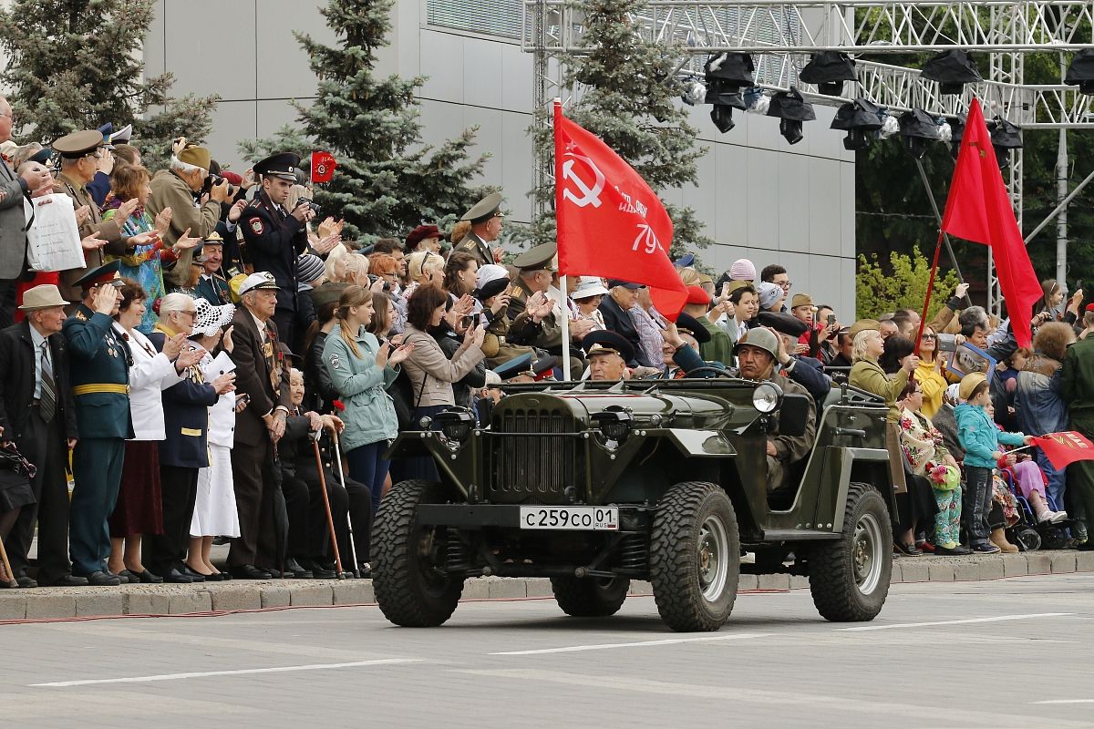
[[[656,193],[596,136],[562,116],[555,102],[555,215],[558,270],[650,287],[675,320],[687,290],[668,259],[673,222]]]

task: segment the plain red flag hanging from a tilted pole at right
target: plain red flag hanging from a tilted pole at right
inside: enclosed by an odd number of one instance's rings
[[[991,246],[1014,337],[1020,346],[1029,346],[1033,305],[1043,292],[1014,217],[980,103],[975,98],[968,109],[942,230]]]

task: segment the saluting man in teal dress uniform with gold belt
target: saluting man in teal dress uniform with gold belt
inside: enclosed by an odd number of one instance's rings
[[[93,269],[73,285],[82,292],[61,333],[68,343],[70,381],[80,434],[72,451],[72,509],[69,551],[72,574],[91,585],[119,585],[106,569],[110,532],[106,519],[121,484],[126,438],[133,437],[129,415],[129,345],[115,332],[121,302],[118,261]]]

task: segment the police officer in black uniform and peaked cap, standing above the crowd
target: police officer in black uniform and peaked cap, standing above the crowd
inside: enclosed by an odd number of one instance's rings
[[[274,324],[281,341],[292,342],[296,318],[296,257],[307,249],[307,222],[315,211],[306,202],[284,209],[289,190],[296,183],[300,155],[274,154],[254,166],[263,189],[243,210],[241,217],[246,258],[255,272],[269,271],[278,285]]]

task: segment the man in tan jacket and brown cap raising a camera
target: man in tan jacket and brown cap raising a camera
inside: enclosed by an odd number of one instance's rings
[[[220,185],[213,185],[207,195],[201,192],[211,164],[212,157],[208,149],[181,138],[175,143],[170,167],[152,177],[149,186],[152,192],[146,208],[153,217],[171,210],[171,224],[163,236],[167,245],[174,246],[183,235],[206,238],[217,230],[221,203],[231,202],[231,189],[228,180],[224,180]],[[119,215],[118,220],[125,219]],[[195,255],[193,248],[181,251],[175,266],[163,272],[168,291],[186,285],[190,275],[190,260]]]

